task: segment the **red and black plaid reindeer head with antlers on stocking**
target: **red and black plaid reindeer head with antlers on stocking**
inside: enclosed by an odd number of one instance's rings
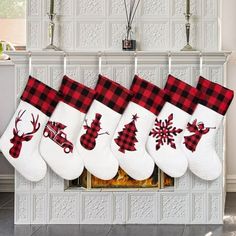
[[[24,110],[23,112],[20,110],[15,119],[15,128],[13,129],[14,137],[10,140],[10,142],[13,144],[13,147],[9,150],[9,154],[13,158],[19,157],[22,148],[22,143],[30,141],[33,138],[33,134],[36,133],[40,128],[40,123],[38,123],[39,115],[37,115],[37,118],[35,119],[34,115],[31,113],[31,124],[33,125],[33,130],[29,133],[22,133],[21,135],[19,135],[19,129],[17,125],[20,121],[22,121],[21,119],[25,112],[26,110]]]

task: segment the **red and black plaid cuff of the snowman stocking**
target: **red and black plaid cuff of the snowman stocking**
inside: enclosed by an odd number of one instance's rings
[[[95,87],[96,100],[122,114],[128,105],[132,92],[122,85],[99,75]]]

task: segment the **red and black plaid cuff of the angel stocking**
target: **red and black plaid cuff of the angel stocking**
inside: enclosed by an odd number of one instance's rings
[[[203,77],[199,78],[197,89],[203,94],[199,103],[221,115],[225,115],[233,100],[234,91]]]

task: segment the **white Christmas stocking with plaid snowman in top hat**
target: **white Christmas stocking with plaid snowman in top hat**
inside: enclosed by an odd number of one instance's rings
[[[85,117],[77,148],[86,169],[100,179],[109,180],[118,171],[110,143],[131,92],[101,75],[95,90],[96,99]]]

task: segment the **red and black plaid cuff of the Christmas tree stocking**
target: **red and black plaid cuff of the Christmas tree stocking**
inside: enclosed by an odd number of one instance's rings
[[[130,90],[134,93],[133,102],[146,108],[155,115],[160,113],[165,103],[163,89],[135,75]]]

